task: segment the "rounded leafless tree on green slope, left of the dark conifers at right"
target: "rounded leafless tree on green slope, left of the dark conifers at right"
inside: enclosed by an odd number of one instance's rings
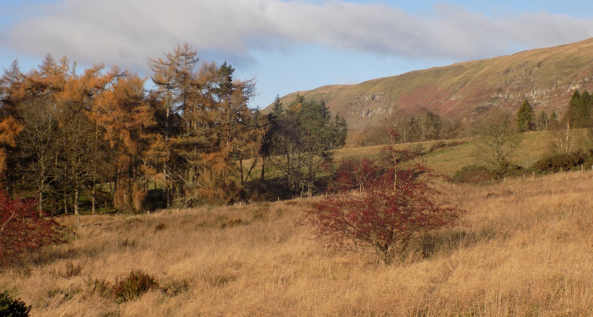
[[[476,133],[481,136],[480,159],[490,168],[505,166],[519,141],[511,113],[506,110],[492,111],[477,122]]]

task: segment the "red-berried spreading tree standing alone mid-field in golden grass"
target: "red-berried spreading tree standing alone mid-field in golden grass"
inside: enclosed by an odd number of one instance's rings
[[[435,183],[438,175],[422,164],[397,166],[393,158],[402,153],[391,146],[386,151],[389,159],[342,164],[339,174],[358,175],[350,180],[359,190],[344,186],[300,220],[313,228],[321,244],[372,246],[380,260],[389,263],[410,239],[460,222],[466,212],[444,199],[447,196]]]

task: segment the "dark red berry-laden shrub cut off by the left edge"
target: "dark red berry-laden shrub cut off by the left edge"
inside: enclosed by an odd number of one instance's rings
[[[69,232],[52,217],[41,213],[30,200],[12,200],[0,192],[0,266],[20,264],[30,252],[63,244]]]

